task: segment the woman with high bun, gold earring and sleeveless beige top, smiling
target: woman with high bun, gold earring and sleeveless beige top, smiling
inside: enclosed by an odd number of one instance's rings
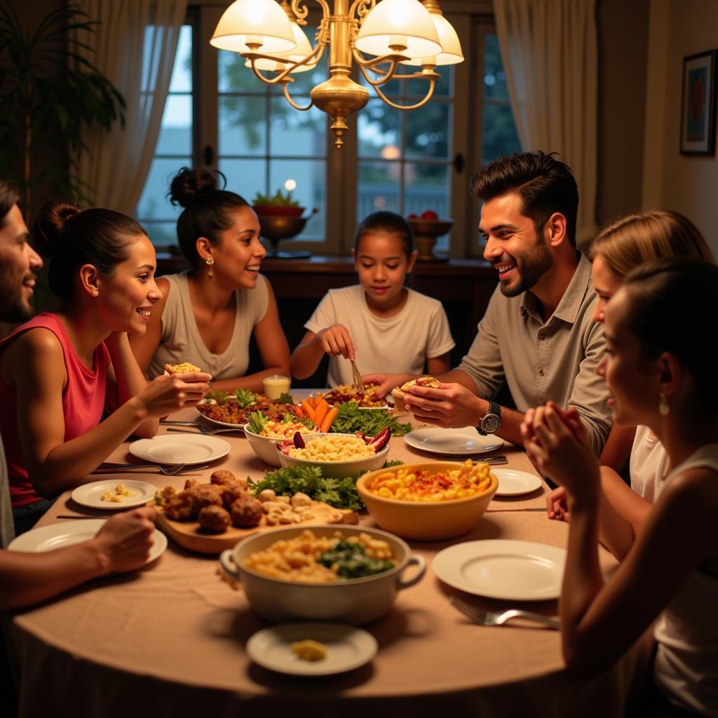
[[[169,190],[185,208],[177,220],[192,269],[157,280],[164,295],[132,349],[151,378],[164,365],[190,362],[213,376],[215,391],[262,390],[271,374],[289,376],[289,345],[269,281],[259,274],[266,250],[252,208],[220,190],[205,169],[180,170]],[[264,370],[245,376],[254,335]]]

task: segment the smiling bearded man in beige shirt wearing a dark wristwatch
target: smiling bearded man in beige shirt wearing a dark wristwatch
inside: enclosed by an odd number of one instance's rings
[[[595,367],[605,350],[592,320],[591,264],[576,249],[579,194],[567,164],[554,153],[501,157],[472,178],[482,202],[484,258],[499,285],[458,368],[439,388],[413,386],[404,397],[419,421],[476,426],[523,444],[520,425],[533,406],[575,406],[600,454],[610,431],[607,390]],[[382,393],[409,376],[374,375]],[[517,410],[491,399],[506,382]]]

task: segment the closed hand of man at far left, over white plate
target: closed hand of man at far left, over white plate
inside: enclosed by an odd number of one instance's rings
[[[147,561],[152,547],[154,508],[136,508],[110,518],[100,529],[93,543],[103,556],[107,573],[138,569]]]

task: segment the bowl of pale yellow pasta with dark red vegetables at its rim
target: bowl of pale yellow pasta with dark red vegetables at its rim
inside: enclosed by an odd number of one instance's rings
[[[389,452],[389,444],[376,452],[355,434],[312,434],[303,438],[303,449],[292,447],[284,454],[276,448],[281,466],[320,466],[322,475],[344,478],[381,468]]]

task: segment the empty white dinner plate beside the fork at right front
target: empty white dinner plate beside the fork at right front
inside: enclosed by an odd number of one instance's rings
[[[566,551],[533,541],[487,539],[454,544],[434,556],[444,583],[477,596],[512,601],[558,598]]]

